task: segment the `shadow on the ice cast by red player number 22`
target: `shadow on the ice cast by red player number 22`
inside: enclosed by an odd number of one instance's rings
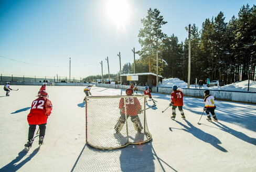
[[[0,171],[2,172],[14,172],[14,171],[18,171],[22,166],[24,166],[27,162],[29,162],[30,159],[32,159],[37,153],[38,153],[39,147],[36,148],[33,153],[31,153],[26,159],[24,159],[22,162],[18,163],[24,156],[27,155],[27,151],[25,149],[23,149],[22,151],[20,151],[18,153],[18,156],[12,160],[12,162],[10,162],[9,164],[5,165],[4,167],[2,167],[0,169]],[[17,164],[18,163],[18,164]]]

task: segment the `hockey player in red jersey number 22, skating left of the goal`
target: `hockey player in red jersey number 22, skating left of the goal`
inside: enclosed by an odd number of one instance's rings
[[[25,149],[28,151],[34,141],[34,133],[36,125],[39,125],[39,145],[43,144],[45,138],[45,130],[48,116],[51,114],[52,104],[48,99],[48,93],[44,90],[38,92],[38,97],[32,102],[30,113],[27,116],[29,124],[28,142],[25,144]]]

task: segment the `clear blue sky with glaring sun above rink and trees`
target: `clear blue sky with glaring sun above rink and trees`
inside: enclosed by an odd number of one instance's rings
[[[138,32],[149,8],[167,21],[163,33],[179,42],[189,24],[201,29],[206,18],[223,12],[228,22],[254,1],[0,0],[0,72],[4,76],[84,78],[118,73],[140,50]],[[138,59],[138,55],[135,55]],[[71,63],[70,63],[71,61]],[[102,61],[102,70],[101,70]],[[70,65],[71,64],[71,65]]]

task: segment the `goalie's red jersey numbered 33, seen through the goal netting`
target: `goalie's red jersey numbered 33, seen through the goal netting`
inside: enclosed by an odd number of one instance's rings
[[[138,111],[141,110],[141,104],[137,98],[126,98],[125,104],[127,115],[136,116]],[[119,109],[123,109],[122,113],[125,114],[124,98],[121,98],[119,102]]]

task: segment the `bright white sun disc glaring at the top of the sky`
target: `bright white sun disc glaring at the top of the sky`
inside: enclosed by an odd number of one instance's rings
[[[129,3],[126,0],[109,0],[106,3],[106,14],[116,26],[124,27],[130,17]]]

